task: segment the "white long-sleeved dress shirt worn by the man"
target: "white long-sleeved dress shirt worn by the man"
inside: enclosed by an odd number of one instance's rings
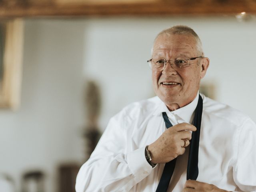
[[[197,180],[228,191],[256,192],[256,124],[230,106],[202,98]],[[158,97],[126,106],[110,119],[80,168],[76,192],[155,192],[164,164],[152,168],[145,147],[166,130],[162,112],[173,125],[192,123],[197,102],[198,95],[173,112]],[[177,158],[168,192],[184,188],[188,151]]]

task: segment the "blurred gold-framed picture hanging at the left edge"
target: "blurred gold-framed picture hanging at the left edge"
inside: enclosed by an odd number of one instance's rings
[[[0,21],[0,108],[20,106],[23,25],[22,19]]]

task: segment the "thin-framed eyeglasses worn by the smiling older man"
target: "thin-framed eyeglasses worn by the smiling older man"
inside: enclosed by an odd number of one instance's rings
[[[175,70],[183,69],[188,67],[191,63],[189,62],[190,60],[195,60],[197,58],[203,58],[202,56],[200,57],[193,57],[193,58],[176,58],[174,62],[172,60],[166,60],[165,58],[152,58],[148,60],[148,64],[150,69],[152,70],[157,70],[157,71],[162,71],[166,67],[166,63],[169,61],[172,68]]]

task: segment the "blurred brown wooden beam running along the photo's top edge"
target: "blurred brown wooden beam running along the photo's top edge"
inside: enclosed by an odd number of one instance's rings
[[[16,0],[17,1],[17,0]],[[36,4],[6,3],[0,0],[0,18],[45,16],[152,16],[220,15],[248,12],[256,14],[256,0],[162,0],[148,3],[62,3],[50,0]],[[1,3],[2,2],[2,3]],[[72,2],[72,0],[70,0]]]

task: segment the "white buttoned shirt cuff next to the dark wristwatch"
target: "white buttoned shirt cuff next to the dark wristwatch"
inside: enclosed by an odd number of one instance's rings
[[[152,166],[148,164],[145,157],[145,148],[146,146],[127,154],[127,163],[136,182],[140,182],[152,171]]]

